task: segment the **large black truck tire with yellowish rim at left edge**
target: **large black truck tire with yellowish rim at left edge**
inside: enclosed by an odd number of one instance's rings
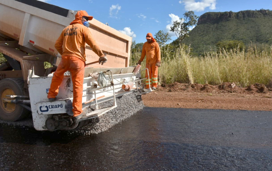
[[[6,78],[0,81],[0,119],[4,121],[18,121],[29,115],[29,111],[19,104],[4,104],[3,99],[10,99],[6,95],[23,95],[23,78]]]

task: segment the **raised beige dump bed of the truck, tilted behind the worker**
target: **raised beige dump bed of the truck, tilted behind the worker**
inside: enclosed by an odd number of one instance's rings
[[[76,13],[37,0],[0,0],[0,36],[15,39],[18,45],[37,53],[60,57],[55,42]],[[89,30],[98,46],[107,53],[108,62],[103,66],[95,63],[99,57],[86,45],[86,64],[93,63],[87,67],[128,67],[132,37],[95,19],[89,23]]]

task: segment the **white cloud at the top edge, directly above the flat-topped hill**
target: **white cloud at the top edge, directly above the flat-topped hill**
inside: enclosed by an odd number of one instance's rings
[[[198,2],[195,2],[195,0],[182,0],[179,3],[183,3],[187,11],[204,11],[207,7],[211,10],[216,9],[216,0],[201,0]]]

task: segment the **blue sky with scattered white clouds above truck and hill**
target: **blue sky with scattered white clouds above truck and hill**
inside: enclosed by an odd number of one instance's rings
[[[272,10],[271,0],[40,0],[70,10],[85,10],[96,20],[132,36],[136,43],[145,42],[148,32],[169,31],[173,21],[186,11],[201,16],[205,12],[239,12]],[[177,37],[173,32],[172,40]]]

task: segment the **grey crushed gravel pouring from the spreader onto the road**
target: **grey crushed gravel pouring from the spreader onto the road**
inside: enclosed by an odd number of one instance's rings
[[[112,106],[112,103],[113,101],[110,100],[99,105],[104,108]],[[136,96],[136,92],[116,98],[116,104],[117,107],[113,110],[105,113],[99,118],[91,119],[88,125],[73,132],[90,135],[106,131],[144,108],[142,98],[141,96]]]

